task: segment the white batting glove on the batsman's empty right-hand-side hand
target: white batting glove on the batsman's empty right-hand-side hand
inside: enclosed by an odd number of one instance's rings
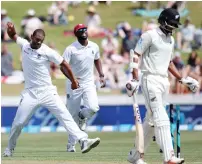
[[[182,78],[179,82],[186,85],[193,93],[199,89],[199,82],[189,76]]]

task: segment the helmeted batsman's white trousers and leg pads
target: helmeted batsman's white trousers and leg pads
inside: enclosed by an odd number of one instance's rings
[[[165,109],[165,98],[169,93],[170,83],[167,77],[143,74],[141,85],[147,108],[146,118],[143,123],[145,151],[153,136],[151,132],[153,123],[156,141],[160,148],[163,149],[164,160],[167,162],[174,155],[170,121]]]

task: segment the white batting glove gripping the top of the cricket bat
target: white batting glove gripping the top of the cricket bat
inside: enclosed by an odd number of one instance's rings
[[[139,90],[139,81],[138,80],[130,80],[126,83],[126,91],[127,95],[131,97],[134,93],[137,93]]]

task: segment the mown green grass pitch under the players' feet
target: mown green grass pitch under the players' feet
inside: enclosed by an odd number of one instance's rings
[[[22,134],[12,158],[2,157],[2,164],[127,164],[133,146],[134,132],[90,133],[101,138],[100,145],[87,154],[66,152],[66,133]],[[202,132],[181,132],[181,155],[186,164],[202,164]],[[2,134],[2,151],[8,135]],[[152,141],[145,156],[148,164],[162,164],[162,154]]]

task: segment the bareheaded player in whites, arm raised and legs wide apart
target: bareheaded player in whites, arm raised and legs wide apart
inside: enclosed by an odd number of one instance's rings
[[[21,93],[21,101],[12,124],[8,147],[3,156],[12,156],[16,141],[22,128],[39,106],[46,107],[59,120],[69,134],[76,138],[81,145],[82,153],[87,153],[96,147],[100,139],[88,139],[88,135],[81,131],[60,99],[56,87],[52,85],[50,77],[50,62],[60,65],[64,75],[70,79],[72,90],[78,89],[79,84],[70,66],[56,51],[43,44],[45,32],[37,29],[31,36],[31,42],[16,34],[12,23],[7,24],[7,33],[22,50],[22,67],[25,78],[25,89]]]

